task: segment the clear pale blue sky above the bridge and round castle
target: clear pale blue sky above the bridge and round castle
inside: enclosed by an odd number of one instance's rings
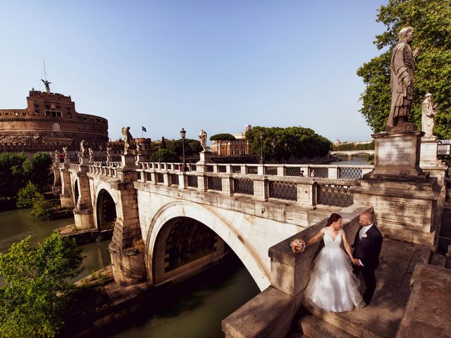
[[[387,0],[4,0],[0,108],[28,91],[70,95],[109,120],[111,139],[197,139],[245,125],[309,127],[335,141],[371,139],[357,68]]]

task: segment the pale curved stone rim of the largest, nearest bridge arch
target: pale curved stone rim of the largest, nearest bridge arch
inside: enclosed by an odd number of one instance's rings
[[[149,282],[154,284],[155,276],[152,263],[154,262],[154,255],[156,255],[155,250],[159,233],[166,224],[176,222],[180,218],[196,220],[212,230],[218,237],[221,237],[237,257],[240,258],[240,261],[242,261],[250,275],[252,275],[260,290],[266,289],[271,284],[270,278],[265,273],[261,262],[258,261],[252,254],[252,251],[247,248],[243,239],[231,227],[208,209],[189,201],[181,200],[170,202],[161,207],[152,219],[149,230],[147,231],[144,252],[146,255],[145,259],[147,262],[146,267]]]

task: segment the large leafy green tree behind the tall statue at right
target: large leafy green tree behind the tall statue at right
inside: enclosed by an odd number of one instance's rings
[[[419,47],[414,73],[413,121],[421,128],[421,102],[428,92],[438,104],[434,134],[451,138],[451,2],[450,0],[390,0],[381,6],[377,22],[386,30],[376,35],[374,44],[383,53],[364,63],[357,75],[366,84],[360,112],[373,132],[384,130],[390,113],[390,60],[397,34],[402,27],[415,29],[412,49]]]

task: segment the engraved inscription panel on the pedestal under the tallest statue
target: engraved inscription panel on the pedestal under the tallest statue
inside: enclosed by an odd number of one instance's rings
[[[389,142],[378,144],[378,165],[401,165],[411,164],[412,142],[391,139]]]

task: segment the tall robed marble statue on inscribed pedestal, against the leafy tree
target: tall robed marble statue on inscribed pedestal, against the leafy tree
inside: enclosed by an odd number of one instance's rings
[[[410,48],[413,35],[412,27],[402,28],[399,32],[399,40],[393,48],[390,63],[392,104],[386,131],[390,131],[397,125],[406,125],[410,115],[414,92],[415,58],[420,53],[420,49],[412,51]]]

